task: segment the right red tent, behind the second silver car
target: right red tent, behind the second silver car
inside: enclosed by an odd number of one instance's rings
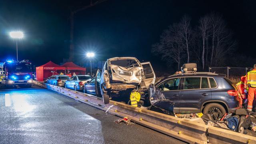
[[[65,64],[62,64],[61,66],[64,66],[66,70],[69,70],[71,74],[75,72],[76,74],[86,74],[86,68],[83,68],[81,66],[78,66],[74,64],[73,62],[66,62]]]

